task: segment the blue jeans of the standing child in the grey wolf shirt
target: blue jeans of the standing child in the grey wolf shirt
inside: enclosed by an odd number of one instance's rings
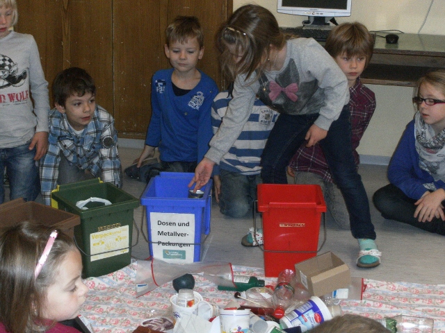
[[[9,178],[10,200],[24,198],[33,201],[40,192],[40,178],[37,162],[34,160],[35,148],[30,151],[29,144],[13,148],[0,148],[0,203],[5,200],[5,189],[3,188],[3,173]]]

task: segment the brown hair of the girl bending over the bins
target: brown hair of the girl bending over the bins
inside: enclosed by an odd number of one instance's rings
[[[286,37],[275,16],[266,8],[252,4],[238,8],[221,26],[216,39],[223,74],[233,81],[238,74],[247,74],[249,78],[257,69],[257,77],[261,76],[270,45],[282,49]],[[236,54],[230,53],[229,46],[234,46]],[[235,62],[234,56],[241,59]]]

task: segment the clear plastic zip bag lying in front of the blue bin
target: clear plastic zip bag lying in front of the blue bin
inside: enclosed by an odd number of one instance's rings
[[[193,262],[169,264],[160,259],[138,260],[136,273],[136,297],[175,280],[184,274],[198,274],[218,286],[233,287],[234,273],[229,262]]]

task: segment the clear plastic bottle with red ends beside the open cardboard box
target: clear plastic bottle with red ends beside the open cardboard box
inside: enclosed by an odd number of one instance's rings
[[[291,305],[295,289],[292,282],[295,282],[295,271],[285,269],[281,271],[277,279],[277,287],[273,291],[272,301],[275,310],[273,316],[277,319],[284,316],[284,311]]]

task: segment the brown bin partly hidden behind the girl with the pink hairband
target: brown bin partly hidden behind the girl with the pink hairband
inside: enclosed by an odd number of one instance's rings
[[[22,221],[54,226],[74,237],[74,226],[81,223],[79,215],[56,210],[22,198],[10,200],[0,205],[0,227],[9,227]]]

